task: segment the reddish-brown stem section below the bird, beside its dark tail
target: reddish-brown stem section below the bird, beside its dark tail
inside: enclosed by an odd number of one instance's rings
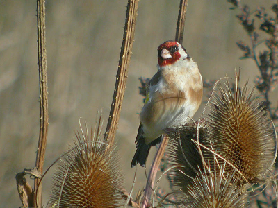
[[[159,145],[159,147],[156,151],[156,155],[154,156],[154,162],[152,162],[152,168],[149,171],[144,196],[143,196],[142,202],[141,202],[142,208],[150,207],[149,199],[151,198],[151,195],[152,195],[154,181],[156,179],[156,173],[158,171],[159,165],[161,164],[161,159],[164,155],[168,140],[169,140],[169,137],[167,135],[163,135],[161,144]]]

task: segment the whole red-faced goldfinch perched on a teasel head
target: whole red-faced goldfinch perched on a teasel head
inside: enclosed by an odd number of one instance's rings
[[[158,71],[146,89],[131,167],[138,163],[144,167],[151,146],[161,142],[164,130],[186,124],[202,102],[202,76],[186,49],[168,40],[157,51]]]

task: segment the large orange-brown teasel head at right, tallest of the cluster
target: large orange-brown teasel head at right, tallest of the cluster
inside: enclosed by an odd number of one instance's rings
[[[231,164],[225,172],[233,173],[236,168],[241,183],[263,182],[274,162],[275,130],[253,90],[248,92],[247,83],[240,89],[238,82],[236,75],[232,91],[228,79],[224,80],[208,103],[209,131],[202,144],[211,150],[205,149],[203,153],[210,161],[215,157],[211,151],[220,155],[220,165],[225,161]]]

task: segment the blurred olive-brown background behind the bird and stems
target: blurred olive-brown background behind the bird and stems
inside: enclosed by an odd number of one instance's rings
[[[104,130],[115,86],[127,1],[47,0],[47,70],[49,84],[49,132],[44,169],[74,144],[81,123],[95,125],[98,110]],[[243,0],[251,10],[274,0]],[[243,52],[236,42],[250,43],[227,1],[189,1],[183,46],[199,65],[204,80],[234,78],[240,69],[241,83],[259,75],[252,60],[239,60]],[[36,2],[0,0],[0,207],[19,207],[15,174],[35,166],[40,126]],[[117,148],[122,156],[125,187],[129,191],[135,168],[130,163],[142,107],[138,94],[143,76],[156,73],[159,44],[174,40],[178,0],[140,0],[133,55],[122,105]],[[205,91],[204,101],[208,91]],[[270,94],[277,102],[277,89]],[[276,95],[276,96],[275,96]],[[201,114],[202,105],[195,114]],[[155,152],[152,148],[147,170]],[[51,174],[42,183],[46,205]],[[31,182],[33,186],[33,181]],[[138,167],[136,191],[145,186],[144,168]]]

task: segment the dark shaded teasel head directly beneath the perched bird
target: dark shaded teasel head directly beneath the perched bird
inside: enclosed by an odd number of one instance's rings
[[[206,136],[206,131],[206,124],[202,122],[199,127],[199,142],[202,142]],[[167,128],[165,133],[170,137],[166,148],[168,163],[170,166],[177,166],[177,168],[172,168],[168,175],[172,178],[170,184],[179,200],[179,193],[182,192],[181,198],[183,198],[183,193],[188,191],[188,184],[203,166],[199,150],[192,141],[192,139],[197,141],[197,125],[186,123],[186,125]]]

